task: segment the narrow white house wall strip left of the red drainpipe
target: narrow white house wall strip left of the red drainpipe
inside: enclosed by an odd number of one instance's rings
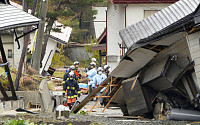
[[[124,5],[108,5],[107,26],[107,63],[112,71],[120,61],[121,49],[118,43],[122,43],[119,30],[124,28]]]

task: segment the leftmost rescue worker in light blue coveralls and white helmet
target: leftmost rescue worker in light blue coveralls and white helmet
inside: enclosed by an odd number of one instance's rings
[[[87,80],[88,80],[88,86],[89,86],[89,93],[92,92],[92,81],[93,81],[93,77],[97,74],[97,71],[95,69],[96,67],[96,63],[95,62],[91,62],[90,63],[90,67],[91,70],[89,70],[87,72]]]

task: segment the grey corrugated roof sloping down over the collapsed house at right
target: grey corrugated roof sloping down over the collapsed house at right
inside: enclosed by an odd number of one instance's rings
[[[158,36],[161,30],[165,30],[167,27],[193,13],[199,4],[200,0],[180,0],[160,12],[129,26],[129,33],[131,34],[124,34],[125,32],[123,31],[127,29],[122,29],[120,36],[125,44],[128,43],[127,47],[130,48],[136,42]],[[130,29],[132,29],[132,32]]]

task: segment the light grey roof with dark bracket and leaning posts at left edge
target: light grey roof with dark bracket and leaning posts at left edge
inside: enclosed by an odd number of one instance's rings
[[[8,0],[1,0],[0,1],[0,31],[8,30],[8,29],[14,29],[15,35],[16,35],[16,41],[18,42],[18,45],[20,47],[18,39],[22,38],[23,36],[27,35],[30,32],[24,33],[22,36],[17,36],[16,33],[16,28],[19,27],[25,27],[25,26],[31,26],[31,25],[38,25],[40,20],[20,9],[17,9],[16,7],[13,7],[9,4]],[[33,29],[34,31],[35,29]],[[7,62],[7,58],[5,55],[3,43],[0,37],[0,51],[1,51],[1,56],[3,59],[3,64],[1,66],[5,67],[5,71],[8,76],[11,92],[12,92],[12,97],[8,97],[6,94],[2,84],[0,83],[0,91],[3,95],[2,100],[10,100],[10,99],[17,99],[15,89],[13,86],[12,78],[10,75],[10,69],[9,69],[9,63]]]

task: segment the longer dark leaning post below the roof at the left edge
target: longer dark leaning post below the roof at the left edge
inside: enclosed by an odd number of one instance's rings
[[[1,56],[2,56],[2,59],[3,59],[3,63],[7,63],[8,61],[6,59],[6,54],[5,54],[5,51],[4,51],[4,47],[3,47],[3,42],[1,40],[1,36],[0,36],[0,51],[1,51]],[[13,81],[12,81],[12,77],[11,77],[10,69],[9,69],[8,65],[5,65],[5,71],[7,73],[7,77],[8,77],[8,81],[9,81],[9,84],[10,84],[10,89],[11,89],[11,92],[12,92],[13,99],[17,100],[17,95],[15,93],[15,88],[13,86]]]

